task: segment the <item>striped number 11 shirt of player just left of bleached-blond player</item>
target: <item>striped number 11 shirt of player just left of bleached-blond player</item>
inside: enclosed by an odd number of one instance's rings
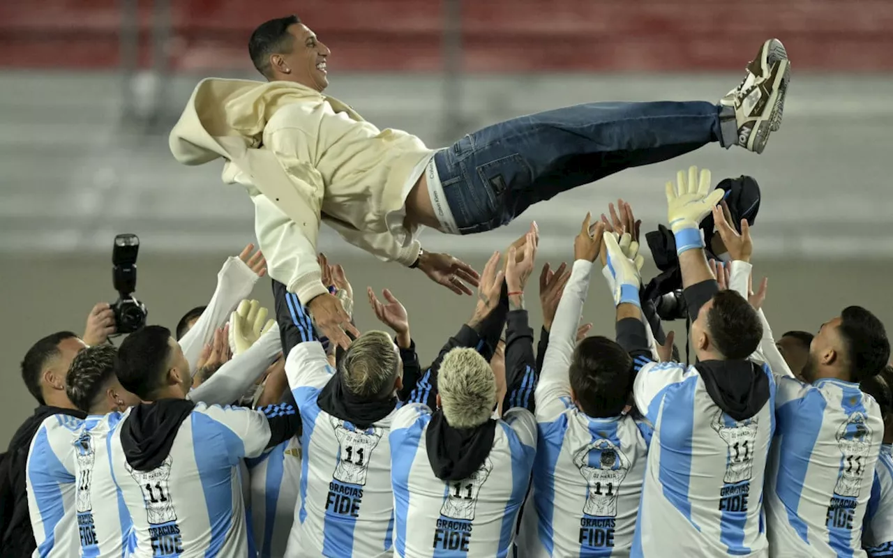
[[[394,412],[359,429],[322,411],[316,400],[335,371],[318,341],[292,348],[285,369],[304,427],[294,527],[299,532],[289,540],[289,553],[296,548],[307,557],[392,555],[388,432]]]

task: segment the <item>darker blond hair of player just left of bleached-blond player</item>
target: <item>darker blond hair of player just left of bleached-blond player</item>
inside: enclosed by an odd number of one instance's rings
[[[345,387],[355,396],[377,398],[394,390],[399,369],[394,341],[384,331],[367,331],[357,337],[341,360]]]

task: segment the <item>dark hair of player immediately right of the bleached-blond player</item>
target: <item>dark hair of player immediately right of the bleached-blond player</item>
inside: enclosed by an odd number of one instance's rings
[[[590,417],[619,415],[630,396],[632,359],[612,339],[586,337],[573,351],[568,376],[580,410]]]

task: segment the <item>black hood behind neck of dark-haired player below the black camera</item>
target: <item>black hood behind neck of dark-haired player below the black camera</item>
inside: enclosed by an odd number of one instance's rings
[[[130,467],[152,471],[171,454],[179,425],[196,404],[188,399],[159,399],[130,409],[121,425],[121,447]]]

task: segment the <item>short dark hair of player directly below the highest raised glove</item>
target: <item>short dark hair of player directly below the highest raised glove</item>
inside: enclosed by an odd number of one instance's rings
[[[732,361],[742,361],[754,353],[763,339],[763,322],[747,298],[733,290],[714,295],[707,312],[707,328],[716,350]]]

